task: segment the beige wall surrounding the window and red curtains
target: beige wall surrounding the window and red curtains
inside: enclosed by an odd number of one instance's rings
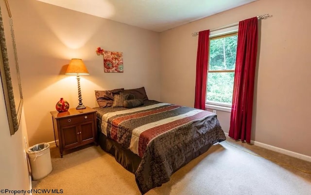
[[[252,140],[311,156],[311,1],[259,0],[160,34],[161,101],[193,106],[198,37],[195,31],[262,20]],[[228,132],[230,113],[218,111]]]

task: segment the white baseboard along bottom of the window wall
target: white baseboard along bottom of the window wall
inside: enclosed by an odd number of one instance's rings
[[[229,137],[228,133],[225,133],[225,136]],[[254,140],[251,140],[251,144],[254,144],[255,146],[259,146],[261,148],[265,148],[265,149],[268,149],[268,150],[276,151],[276,152],[279,152],[279,153],[282,153],[282,154],[286,154],[286,155],[289,155],[289,156],[292,156],[292,157],[295,157],[295,158],[299,158],[299,159],[311,162],[311,156],[307,156],[307,155],[300,154],[300,153],[297,153],[297,152],[294,152],[294,151],[290,151],[290,150],[285,150],[285,149],[282,149],[282,148],[277,148],[275,146],[271,146],[271,145],[264,144],[264,143],[261,143],[261,142],[258,142],[258,141],[254,141]]]

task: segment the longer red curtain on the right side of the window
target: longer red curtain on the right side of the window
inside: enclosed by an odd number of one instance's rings
[[[240,21],[229,136],[251,141],[258,19]]]

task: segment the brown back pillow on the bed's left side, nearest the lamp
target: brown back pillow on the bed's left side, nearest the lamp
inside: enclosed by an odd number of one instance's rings
[[[115,90],[95,90],[95,97],[100,107],[110,107],[113,103],[113,96],[122,92],[124,88]]]

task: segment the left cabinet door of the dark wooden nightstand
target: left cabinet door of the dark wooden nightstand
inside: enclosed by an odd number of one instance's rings
[[[61,127],[61,134],[62,134],[62,144],[63,148],[72,148],[79,145],[79,129],[76,125],[70,126],[63,126]]]

